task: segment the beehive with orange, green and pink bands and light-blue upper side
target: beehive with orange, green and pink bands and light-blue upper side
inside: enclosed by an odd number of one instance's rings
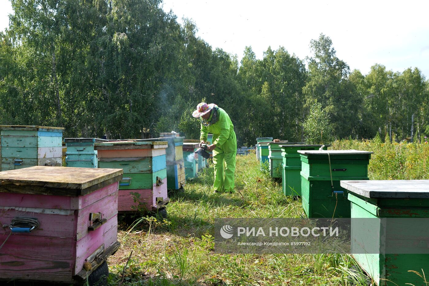
[[[133,212],[136,207],[157,211],[168,203],[166,148],[165,141],[95,143],[98,167],[124,170],[119,181],[119,212]]]

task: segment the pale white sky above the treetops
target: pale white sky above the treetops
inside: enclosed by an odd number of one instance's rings
[[[182,22],[190,18],[197,36],[213,49],[221,48],[241,60],[246,46],[257,58],[271,46],[283,46],[301,59],[311,56],[309,43],[324,33],[337,56],[350,69],[369,73],[378,63],[402,72],[417,67],[429,78],[429,1],[287,1],[287,0],[164,0]],[[0,0],[0,29],[12,13]]]

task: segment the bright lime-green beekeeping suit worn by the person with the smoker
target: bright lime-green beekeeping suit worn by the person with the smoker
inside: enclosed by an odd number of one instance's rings
[[[234,125],[228,113],[218,107],[216,111],[218,121],[204,126],[201,123],[200,140],[207,141],[208,132],[213,134],[213,164],[215,168],[215,182],[213,189],[218,192],[234,192],[234,172],[236,170],[237,137]],[[225,162],[225,179],[224,179]]]

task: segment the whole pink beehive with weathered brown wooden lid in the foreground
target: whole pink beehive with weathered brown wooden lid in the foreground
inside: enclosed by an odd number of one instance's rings
[[[91,274],[85,262],[94,271],[119,247],[121,179],[121,169],[35,166],[0,172],[0,224],[7,225],[0,228],[0,279],[85,280]],[[34,219],[35,229],[18,232]]]

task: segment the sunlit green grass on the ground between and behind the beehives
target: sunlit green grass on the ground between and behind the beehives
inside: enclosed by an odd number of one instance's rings
[[[428,145],[341,140],[331,149],[373,151],[372,180],[429,176]],[[215,218],[304,217],[304,213],[300,200],[281,195],[281,182],[269,177],[254,154],[237,157],[236,193],[214,193],[212,183],[211,166],[187,181],[183,191],[169,193],[166,220],[144,217],[132,230],[120,225],[121,248],[109,259],[110,284],[368,285],[349,255],[214,253]]]

